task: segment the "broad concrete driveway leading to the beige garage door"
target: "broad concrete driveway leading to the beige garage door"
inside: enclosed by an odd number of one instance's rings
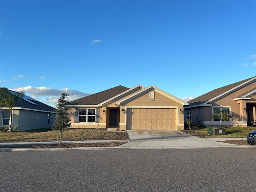
[[[175,130],[127,130],[129,143],[119,147],[133,148],[212,148],[238,145],[198,138]]]

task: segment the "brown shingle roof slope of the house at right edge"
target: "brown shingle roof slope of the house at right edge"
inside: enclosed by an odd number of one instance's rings
[[[252,78],[255,78],[255,77],[252,77]],[[248,78],[246,80],[242,80],[242,81],[239,81],[239,82],[236,82],[236,83],[233,83],[233,84],[230,84],[230,85],[227,85],[227,86],[224,86],[224,87],[221,87],[221,88],[218,88],[218,89],[215,89],[215,90],[212,90],[206,94],[203,94],[197,98],[194,98],[190,101],[188,101],[189,103],[189,107],[190,106],[196,106],[196,105],[200,105],[200,104],[203,104],[221,94],[223,94],[224,92],[228,91],[228,90],[231,90],[232,88],[235,88],[236,86],[239,86],[241,84],[243,84],[244,82],[252,79],[252,78]]]

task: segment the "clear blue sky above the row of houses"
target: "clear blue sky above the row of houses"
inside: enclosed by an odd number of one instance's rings
[[[183,100],[256,76],[256,1],[4,1],[1,87],[54,106],[118,85]]]

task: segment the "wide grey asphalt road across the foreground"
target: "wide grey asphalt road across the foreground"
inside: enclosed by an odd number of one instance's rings
[[[0,152],[0,190],[248,192],[255,162],[255,148]]]

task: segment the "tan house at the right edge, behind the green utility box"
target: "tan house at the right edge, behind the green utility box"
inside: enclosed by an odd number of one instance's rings
[[[184,118],[203,126],[220,126],[211,119],[215,110],[227,111],[233,117],[222,122],[223,127],[256,126],[256,76],[230,84],[188,101]]]

